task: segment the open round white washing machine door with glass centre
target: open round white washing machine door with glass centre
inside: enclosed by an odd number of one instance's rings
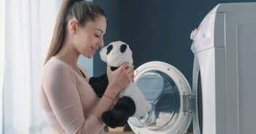
[[[183,134],[193,117],[194,100],[184,75],[171,64],[147,62],[135,70],[135,83],[152,110],[140,120],[128,120],[137,134]]]

